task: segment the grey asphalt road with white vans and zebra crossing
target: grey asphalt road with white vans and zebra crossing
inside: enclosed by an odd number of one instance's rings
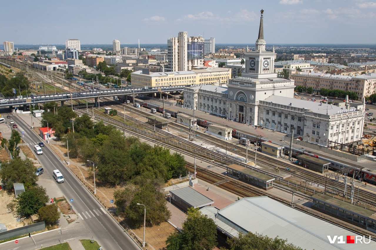
[[[12,119],[18,125],[18,131],[20,133],[21,131],[25,132],[23,139],[33,151],[33,145],[38,144],[38,142],[41,141],[41,138],[35,135],[35,133],[30,130],[29,126],[24,123],[23,120],[18,118],[17,115],[12,115]],[[46,184],[53,182],[55,188],[59,189],[68,201],[73,199],[71,205],[73,205],[73,210],[79,214],[79,218],[76,222],[81,223],[88,235],[92,235],[103,249],[140,249],[140,247],[134,243],[129,235],[124,232],[117,222],[88,192],[88,190],[86,190],[76,177],[74,177],[69,169],[67,169],[67,167],[58,159],[48,147],[48,144],[45,143],[45,145],[46,146],[42,148],[43,154],[36,156],[44,168],[43,178],[46,180]],[[63,174],[65,180],[64,183],[58,184],[54,181],[54,178],[52,177],[52,171],[54,169],[59,169]],[[47,186],[51,185],[47,184]],[[39,244],[43,243],[40,242]],[[35,249],[33,243],[30,246],[33,246],[33,248],[30,249]]]

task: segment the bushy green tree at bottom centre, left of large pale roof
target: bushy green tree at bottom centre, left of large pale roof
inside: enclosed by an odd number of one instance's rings
[[[189,208],[181,234],[168,237],[167,250],[206,250],[217,244],[217,226],[196,208]],[[179,245],[179,248],[177,248]]]

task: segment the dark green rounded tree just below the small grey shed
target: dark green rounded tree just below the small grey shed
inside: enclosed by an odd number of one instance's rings
[[[29,217],[38,212],[49,201],[46,190],[41,186],[32,186],[21,193],[17,199],[17,213],[21,217]]]

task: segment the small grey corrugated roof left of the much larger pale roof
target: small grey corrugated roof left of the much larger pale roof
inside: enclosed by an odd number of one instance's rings
[[[185,201],[186,204],[191,205],[194,208],[203,207],[214,203],[212,199],[209,199],[191,187],[181,187],[180,189],[171,190],[170,193],[179,197]]]

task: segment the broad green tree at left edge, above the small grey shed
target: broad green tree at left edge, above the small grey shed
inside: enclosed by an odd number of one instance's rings
[[[23,183],[25,187],[34,185],[38,180],[35,171],[36,167],[30,159],[15,158],[10,162],[2,163],[0,176],[5,188],[11,190],[13,183]]]

